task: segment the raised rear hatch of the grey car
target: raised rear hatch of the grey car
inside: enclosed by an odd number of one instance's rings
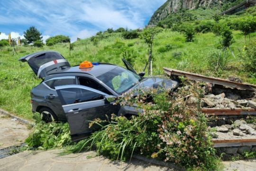
[[[19,59],[27,62],[37,77],[43,78],[58,70],[70,68],[70,64],[64,57],[55,51],[39,51]]]

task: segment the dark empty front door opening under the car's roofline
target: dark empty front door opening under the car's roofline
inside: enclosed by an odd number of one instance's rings
[[[112,93],[110,93],[110,91],[108,91],[106,88],[104,88],[103,86],[101,86],[100,84],[96,83],[95,81],[89,79],[89,78],[85,78],[85,77],[79,77],[78,78],[79,84],[80,85],[84,85],[87,87],[91,87],[95,90],[99,90],[103,93],[112,95]]]

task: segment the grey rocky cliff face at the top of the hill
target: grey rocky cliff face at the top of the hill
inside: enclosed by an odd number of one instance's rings
[[[180,9],[212,8],[216,5],[233,1],[236,0],[167,0],[164,5],[155,11],[148,25],[155,25],[163,18]]]

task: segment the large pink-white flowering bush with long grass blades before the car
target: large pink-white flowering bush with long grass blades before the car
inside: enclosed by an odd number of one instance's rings
[[[161,89],[140,90],[140,95],[136,97],[133,93],[123,94],[118,103],[136,103],[143,109],[139,116],[128,120],[113,115],[109,125],[65,153],[77,153],[95,146],[98,154],[113,160],[127,160],[132,154],[141,154],[184,167],[216,169],[218,162],[210,134],[206,132],[204,115],[197,110],[191,111],[185,102],[177,100],[184,94],[195,94],[200,99],[203,90],[199,85],[192,86],[190,92],[181,89],[179,93],[171,95],[169,91]],[[197,115],[192,115],[195,112]],[[104,121],[95,120],[92,124],[101,122]]]

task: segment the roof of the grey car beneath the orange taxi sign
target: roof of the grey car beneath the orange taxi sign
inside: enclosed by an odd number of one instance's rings
[[[71,68],[63,69],[58,72],[51,73],[50,75],[46,76],[46,79],[50,79],[52,77],[58,77],[59,75],[64,76],[65,74],[69,73],[82,73],[82,74],[89,74],[94,77],[98,77],[114,68],[119,66],[113,64],[106,64],[106,63],[99,63],[97,65],[93,65],[91,68],[79,68],[79,66],[74,66]]]

